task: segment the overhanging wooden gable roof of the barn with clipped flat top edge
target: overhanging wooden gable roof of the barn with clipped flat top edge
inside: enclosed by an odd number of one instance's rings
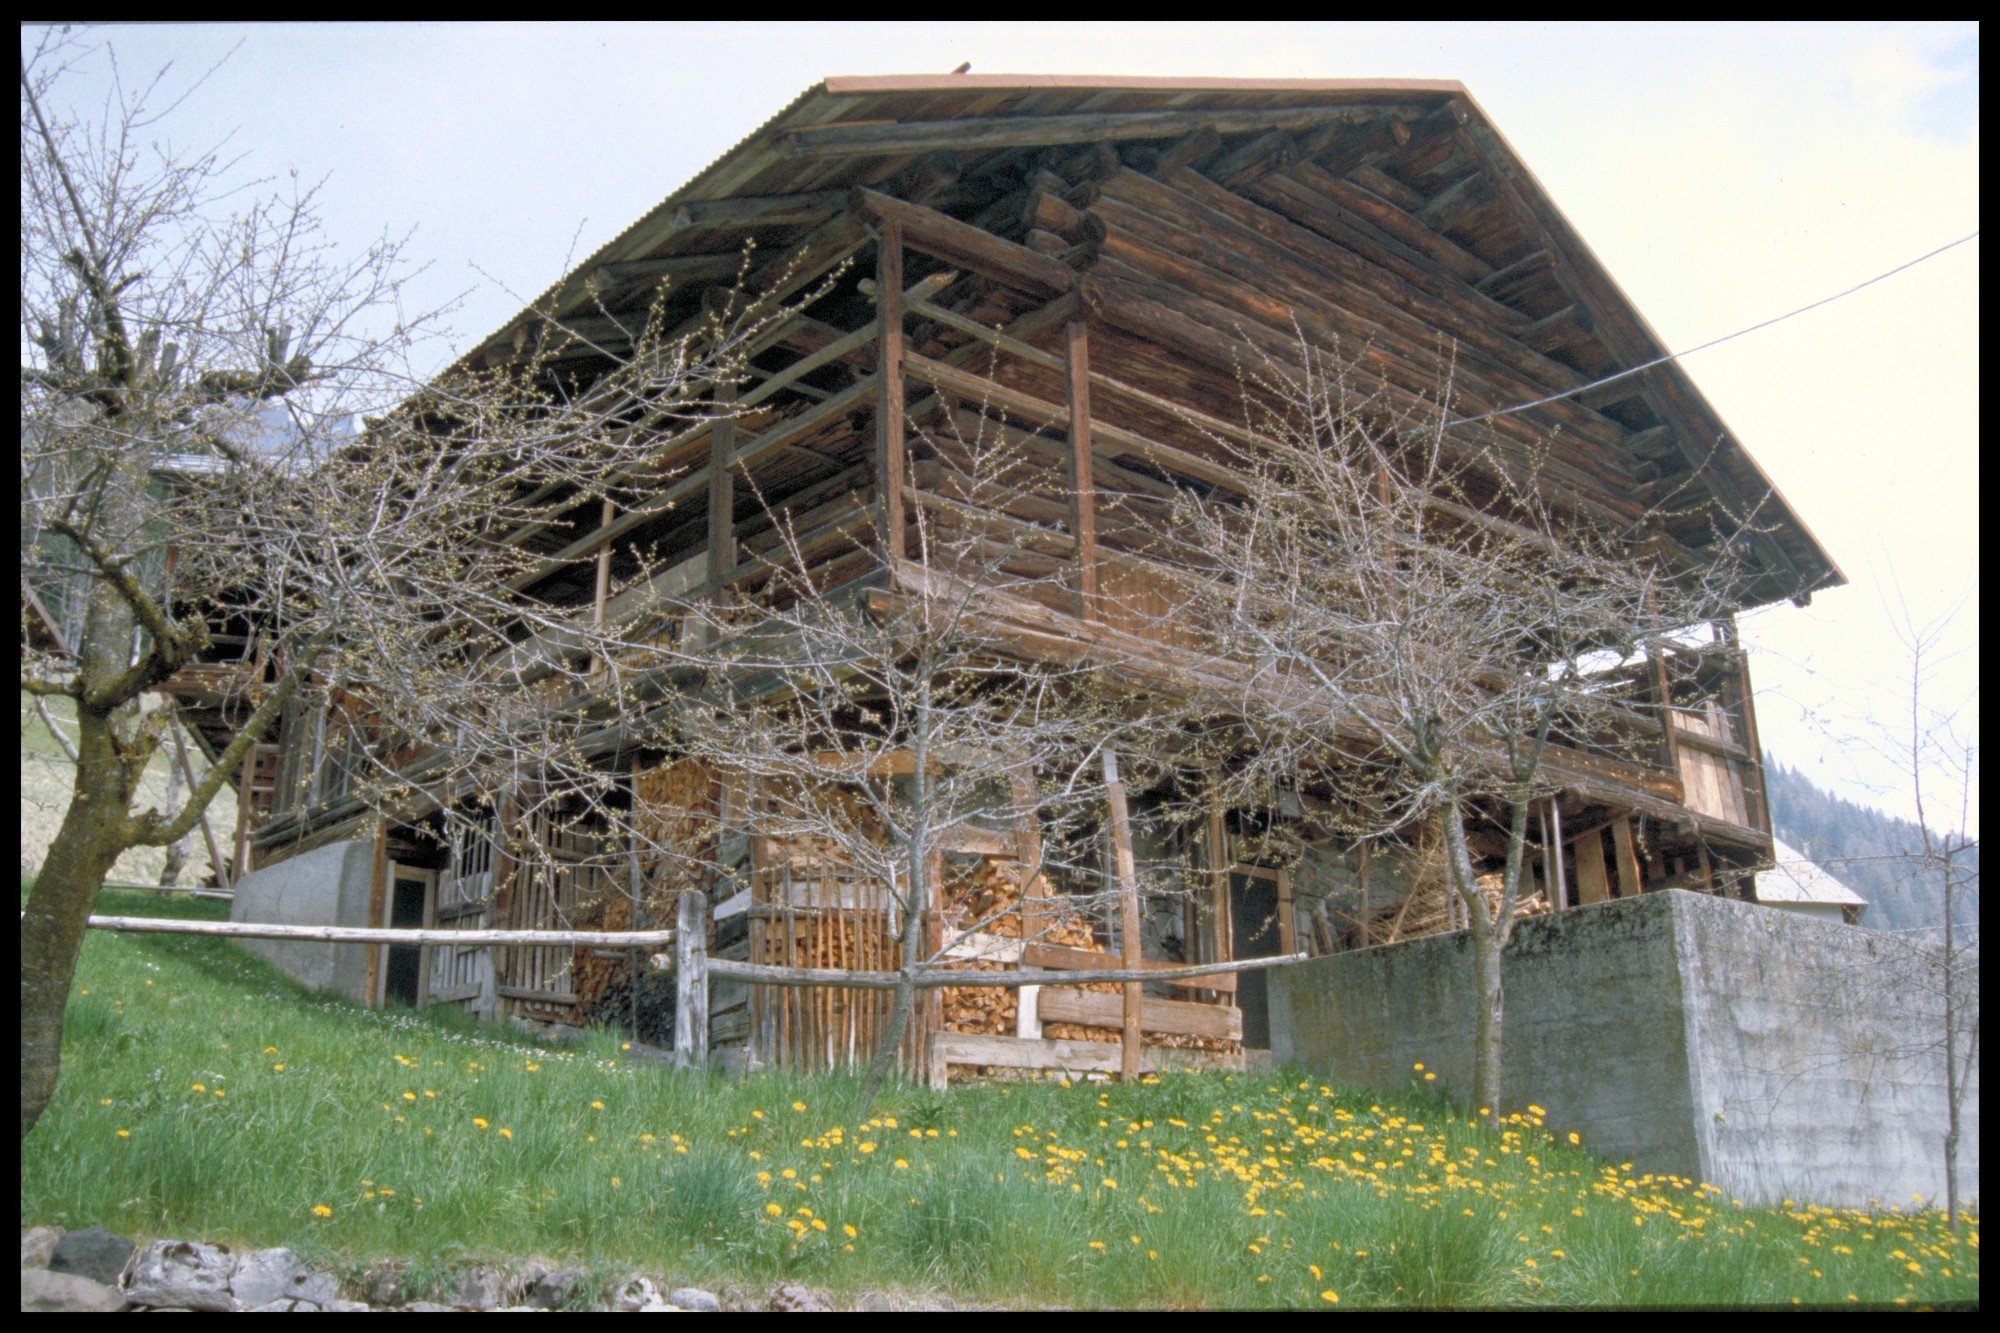
[[[1244,172],[1252,208],[1324,218],[1334,246],[1400,266],[1394,280],[1408,298],[1392,288],[1378,304],[1422,312],[1456,302],[1500,330],[1510,364],[1526,366],[1510,382],[1516,400],[1666,352],[1458,82],[894,74],[826,78],[802,92],[468,362],[510,356],[548,316],[588,322],[618,302],[638,308],[662,278],[690,292],[728,284],[746,242],[770,254],[824,236],[860,186],[898,194],[902,182],[942,172],[952,184],[932,190],[930,206],[972,218],[1004,190],[996,182],[1060,154],[1108,144],[1150,160],[1196,140],[1210,176],[1214,162]],[[1328,300],[1344,290],[1330,286]],[[1716,528],[1750,532],[1760,574],[1746,602],[1804,602],[1846,582],[1678,364],[1586,388],[1544,416],[1552,428],[1584,426],[1570,438],[1588,440],[1580,448],[1598,450],[1612,480],[1640,498],[1700,490],[1720,510]]]

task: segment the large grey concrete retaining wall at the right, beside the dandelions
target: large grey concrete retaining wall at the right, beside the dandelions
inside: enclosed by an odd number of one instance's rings
[[[1524,921],[1506,957],[1508,1109],[1744,1201],[1942,1193],[1944,1065],[1914,947],[1694,893]],[[1464,933],[1272,973],[1272,1055],[1396,1087],[1472,1087]],[[1434,1087],[1436,1087],[1434,1085]],[[1960,1191],[1978,1193],[1978,1087]]]

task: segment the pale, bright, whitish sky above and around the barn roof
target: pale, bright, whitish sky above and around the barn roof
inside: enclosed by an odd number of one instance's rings
[[[412,308],[492,332],[828,74],[1456,78],[1670,348],[1978,228],[1976,24],[330,24],[104,28],[172,62],[164,132],[324,178],[330,234],[416,228]],[[32,42],[36,30],[24,32]],[[234,50],[234,54],[230,54]],[[106,82],[100,78],[92,96]],[[1750,616],[1764,745],[1908,815],[1892,610],[1958,606],[1930,681],[1978,725],[1980,242],[1684,364],[1850,586]],[[450,348],[436,348],[442,364]],[[1900,586],[1900,596],[1896,588]],[[1898,741],[1892,741],[1892,745]],[[1972,827],[1978,827],[1974,793]],[[1932,823],[1944,823],[1942,817]]]

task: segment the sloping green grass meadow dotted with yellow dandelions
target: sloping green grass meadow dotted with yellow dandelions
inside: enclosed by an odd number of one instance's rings
[[[106,893],[100,911],[220,915]],[[728,1081],[302,993],[222,941],[92,933],[22,1223],[290,1245],[436,1281],[612,1277],[1018,1305],[1890,1305],[1978,1299],[1978,1223],[1738,1209],[1422,1091],[1298,1073],[894,1089]]]

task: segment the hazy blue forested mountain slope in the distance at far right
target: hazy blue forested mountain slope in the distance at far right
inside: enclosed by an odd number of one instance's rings
[[[1940,933],[1944,929],[1944,881],[1922,865],[1924,835],[1908,819],[1896,819],[1866,805],[1814,787],[1798,769],[1764,757],[1770,787],[1770,819],[1780,839],[1826,867],[1840,883],[1868,899],[1862,925],[1876,931]],[[1966,853],[1972,891],[1960,893],[1962,939],[1978,939],[1980,853]]]

